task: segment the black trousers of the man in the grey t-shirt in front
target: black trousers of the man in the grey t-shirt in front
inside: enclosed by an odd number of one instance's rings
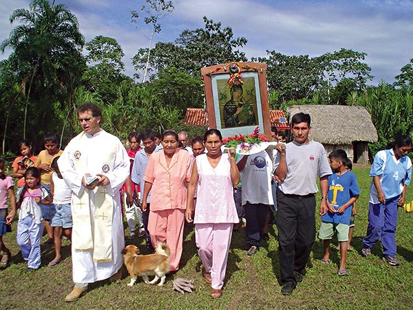
[[[277,190],[277,228],[281,282],[295,282],[305,273],[315,241],[315,195],[287,195]]]

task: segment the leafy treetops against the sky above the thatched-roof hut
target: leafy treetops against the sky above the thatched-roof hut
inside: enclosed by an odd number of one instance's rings
[[[277,92],[278,105],[288,101],[310,102],[316,92],[321,103],[345,104],[348,92],[362,92],[372,79],[370,67],[363,63],[363,52],[341,48],[315,57],[266,52],[268,57],[253,60],[268,65],[268,86]]]

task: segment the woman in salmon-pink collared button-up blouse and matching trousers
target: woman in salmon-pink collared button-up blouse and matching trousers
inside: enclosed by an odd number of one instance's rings
[[[142,211],[147,208],[151,191],[148,230],[152,246],[165,242],[171,249],[170,271],[179,269],[182,255],[187,183],[191,177],[192,161],[187,151],[178,149],[178,134],[173,130],[162,133],[163,150],[153,153],[145,171]]]

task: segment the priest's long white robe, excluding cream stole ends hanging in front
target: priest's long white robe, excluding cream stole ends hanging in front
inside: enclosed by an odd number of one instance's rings
[[[115,149],[115,152],[113,152],[113,149]],[[113,154],[105,154],[105,152],[112,152]],[[79,161],[82,156],[86,156],[82,158],[82,169],[76,169],[78,167],[76,161]],[[110,160],[103,162],[99,158],[110,158]],[[123,265],[121,252],[125,247],[125,238],[119,189],[129,176],[129,156],[116,136],[108,134],[104,130],[100,130],[94,136],[82,132],[65,147],[58,164],[61,174],[67,185],[72,189],[73,194],[81,196],[85,192],[89,195],[91,221],[94,220],[96,209],[94,191],[83,187],[82,178],[86,173],[92,174],[92,176],[103,174],[109,178],[110,183],[103,190],[106,190],[112,196],[114,205],[112,214],[112,259],[107,262],[96,262],[92,260],[93,250],[76,250],[73,246],[74,243],[72,243],[74,282],[91,283],[107,279]],[[72,213],[75,207],[78,207],[78,205],[76,206],[72,200]],[[91,223],[91,227],[93,227],[93,223]],[[75,218],[73,219],[73,229],[76,229]]]

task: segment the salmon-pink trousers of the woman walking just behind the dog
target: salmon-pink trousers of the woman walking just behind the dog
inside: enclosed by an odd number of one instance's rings
[[[165,242],[171,249],[169,262],[170,271],[179,269],[182,256],[182,240],[184,238],[184,209],[168,209],[162,211],[149,211],[148,231],[151,236],[153,248],[158,242]]]

